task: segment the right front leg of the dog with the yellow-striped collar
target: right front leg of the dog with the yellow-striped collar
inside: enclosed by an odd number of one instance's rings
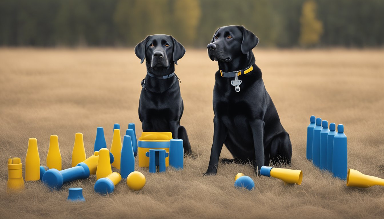
[[[255,119],[250,122],[253,137],[253,146],[255,147],[255,170],[260,174],[260,168],[264,166],[264,121]]]

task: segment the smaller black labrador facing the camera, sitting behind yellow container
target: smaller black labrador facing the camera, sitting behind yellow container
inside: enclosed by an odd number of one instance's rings
[[[135,47],[141,63],[146,59],[147,75],[141,82],[139,119],[143,132],[172,132],[183,140],[184,155],[191,147],[187,130],[180,126],[184,104],[175,64],[185,54],[184,46],[169,35],[151,35]]]

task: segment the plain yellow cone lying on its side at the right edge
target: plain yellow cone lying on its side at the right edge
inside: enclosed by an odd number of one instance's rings
[[[384,179],[376,176],[368,176],[357,170],[349,169],[347,175],[347,186],[368,188],[371,186],[384,186]]]

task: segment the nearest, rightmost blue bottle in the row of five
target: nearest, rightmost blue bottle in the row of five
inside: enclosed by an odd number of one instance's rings
[[[337,134],[333,138],[333,176],[346,180],[348,172],[347,164],[347,137],[344,134],[344,125],[340,124],[337,126]]]

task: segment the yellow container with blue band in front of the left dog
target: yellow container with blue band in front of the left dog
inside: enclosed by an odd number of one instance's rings
[[[163,149],[169,153],[169,140],[171,139],[171,132],[142,132],[137,144],[139,167],[149,167],[149,157],[146,156],[146,153],[150,149]],[[169,156],[166,157],[166,166],[169,166]]]

